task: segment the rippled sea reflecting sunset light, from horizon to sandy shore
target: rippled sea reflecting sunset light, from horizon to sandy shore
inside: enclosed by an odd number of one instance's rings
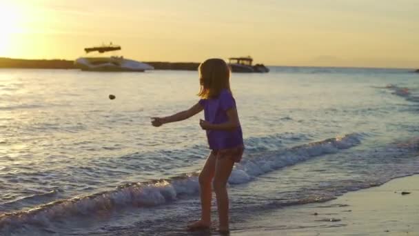
[[[228,181],[232,235],[419,173],[418,73],[270,70],[231,77],[245,140]],[[198,235],[185,226],[210,153],[203,113],[150,124],[198,90],[196,71],[1,69],[0,235]]]

